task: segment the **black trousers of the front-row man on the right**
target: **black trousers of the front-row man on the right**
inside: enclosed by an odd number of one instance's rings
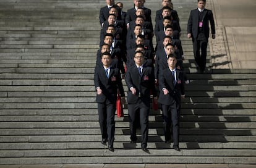
[[[172,105],[162,104],[162,107],[165,141],[171,140],[171,125],[173,125],[173,145],[179,145],[180,107],[176,103],[173,103]]]

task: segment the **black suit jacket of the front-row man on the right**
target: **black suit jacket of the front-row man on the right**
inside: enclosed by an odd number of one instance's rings
[[[178,104],[181,103],[181,95],[185,94],[184,73],[181,70],[176,69],[176,79],[177,83],[174,86],[171,70],[167,68],[161,71],[159,76],[159,103],[164,105],[171,105],[174,102]],[[169,94],[164,95],[163,88],[166,88],[169,91]]]

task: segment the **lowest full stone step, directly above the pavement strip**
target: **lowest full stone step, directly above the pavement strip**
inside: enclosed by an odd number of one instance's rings
[[[107,156],[90,156],[90,157],[28,157],[28,158],[3,158],[2,164],[255,164],[255,157],[223,157],[223,156],[111,156],[106,149]],[[103,152],[105,153],[105,152]],[[135,150],[134,153],[141,153],[141,149]]]

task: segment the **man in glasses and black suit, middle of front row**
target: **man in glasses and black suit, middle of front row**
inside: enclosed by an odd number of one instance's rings
[[[146,153],[148,141],[148,115],[150,111],[150,92],[153,93],[155,100],[156,88],[155,78],[152,67],[143,66],[144,54],[142,51],[137,51],[134,54],[135,65],[129,67],[126,72],[126,84],[128,87],[127,103],[130,122],[130,140],[135,143],[136,136],[136,112],[139,109],[140,115],[140,130],[142,134],[141,148]]]

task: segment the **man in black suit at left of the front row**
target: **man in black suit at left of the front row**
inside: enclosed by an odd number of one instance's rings
[[[125,103],[124,88],[119,69],[111,67],[111,54],[103,52],[101,55],[102,65],[96,65],[94,82],[96,88],[96,102],[98,103],[98,114],[102,140],[106,145],[108,141],[109,151],[114,151],[114,114],[116,111],[117,89]]]

